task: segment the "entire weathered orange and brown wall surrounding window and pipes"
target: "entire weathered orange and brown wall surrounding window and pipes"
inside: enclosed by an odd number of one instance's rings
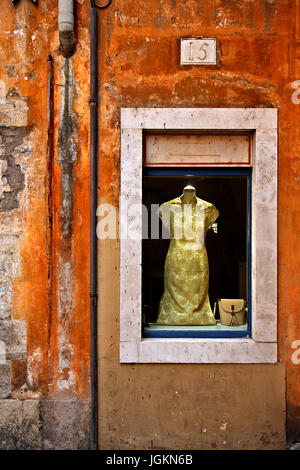
[[[1,5],[0,448],[86,448],[90,2],[74,2],[69,60],[57,1],[39,3]],[[299,15],[298,0],[113,0],[99,13],[99,202],[118,206],[121,107],[279,108],[280,364],[120,365],[119,244],[101,242],[102,449],[283,448],[285,383],[300,439]],[[219,65],[180,67],[180,38],[199,35],[218,38]]]

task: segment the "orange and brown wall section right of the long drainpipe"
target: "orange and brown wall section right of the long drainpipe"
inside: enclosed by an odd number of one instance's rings
[[[120,107],[279,108],[281,365],[119,365],[119,244],[100,243],[100,446],[282,448],[299,439],[296,1],[115,1],[101,13],[99,200],[118,205]],[[180,67],[181,37],[217,37],[217,67]],[[115,294],[112,295],[112,286]],[[286,366],[286,367],[284,367]]]

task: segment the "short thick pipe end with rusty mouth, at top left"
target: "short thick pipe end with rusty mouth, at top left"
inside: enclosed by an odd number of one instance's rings
[[[74,2],[58,0],[59,50],[65,57],[71,57],[75,50]]]

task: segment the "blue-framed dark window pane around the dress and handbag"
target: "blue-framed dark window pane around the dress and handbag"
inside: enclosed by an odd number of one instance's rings
[[[151,230],[158,205],[181,195],[186,185],[197,197],[213,203],[219,211],[217,227],[208,230],[205,245],[209,264],[209,301],[216,325],[165,326],[156,324],[164,292],[164,264],[170,245],[169,233],[160,238]],[[143,204],[148,220],[142,251],[143,337],[247,337],[251,336],[251,168],[148,168],[143,174]],[[151,211],[152,208],[152,211]],[[154,210],[153,210],[154,209]],[[154,219],[155,223],[156,220]],[[145,231],[147,233],[145,233]],[[151,236],[152,235],[152,236]],[[165,235],[165,238],[162,238]],[[147,238],[146,238],[147,237]],[[167,238],[168,237],[168,238]],[[189,252],[186,254],[189,257]],[[199,266],[201,269],[201,266]],[[185,280],[188,282],[188,279]],[[244,299],[244,321],[222,325],[219,299]],[[201,300],[201,299],[200,299]],[[231,320],[231,319],[230,319]],[[227,317],[226,317],[226,323]],[[238,323],[238,319],[236,319]]]

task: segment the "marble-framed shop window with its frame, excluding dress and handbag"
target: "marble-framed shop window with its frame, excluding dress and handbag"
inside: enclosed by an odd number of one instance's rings
[[[120,361],[276,362],[277,110],[124,108],[121,125]],[[144,209],[186,184],[220,213],[206,238],[211,308],[245,299],[242,325],[222,325],[218,311],[216,325],[156,323],[169,240],[149,238]]]

